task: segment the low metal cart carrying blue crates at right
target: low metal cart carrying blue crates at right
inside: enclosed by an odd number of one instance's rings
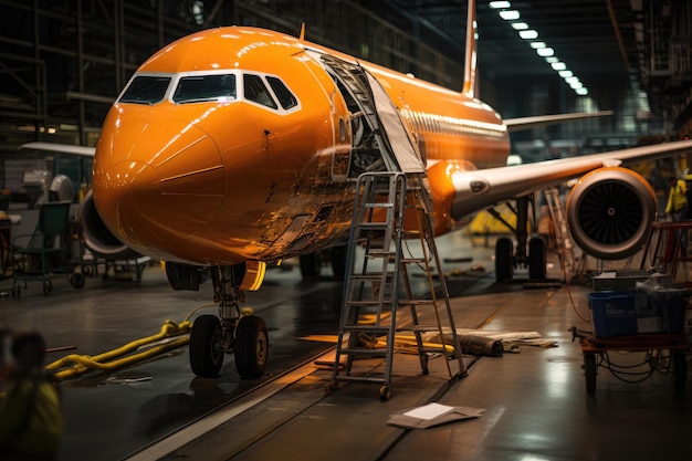
[[[688,377],[688,359],[685,353],[690,350],[690,336],[686,333],[649,333],[641,335],[615,336],[600,338],[595,335],[580,332],[576,327],[569,328],[572,339],[579,338],[581,350],[584,353],[584,375],[586,377],[586,391],[594,394],[596,391],[596,375],[599,367],[614,371],[609,350],[627,350],[627,352],[647,352],[647,350],[669,350],[668,356],[663,356],[668,360],[668,369],[673,378],[673,387],[675,391],[682,391],[685,387]],[[654,363],[660,360],[648,360],[651,376],[654,370]]]

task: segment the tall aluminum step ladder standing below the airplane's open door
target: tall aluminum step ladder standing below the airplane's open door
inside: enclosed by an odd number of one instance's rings
[[[358,178],[334,380],[327,391],[335,389],[339,381],[376,383],[381,385],[380,399],[389,399],[396,344],[402,342],[417,349],[423,375],[429,373],[430,354],[444,357],[450,378],[465,375],[433,239],[424,180],[424,175],[403,172],[366,172]],[[407,247],[419,242],[420,254],[405,256],[405,240]],[[356,250],[360,247],[365,253],[361,263],[356,264]],[[423,283],[413,283],[415,266],[422,270]],[[437,291],[441,293],[440,301]],[[438,306],[441,303],[444,303],[443,308]],[[408,318],[398,318],[400,307],[408,307]],[[401,339],[397,335],[400,332],[410,332],[413,336]],[[434,338],[429,338],[430,335]],[[345,357],[345,364],[342,364],[342,357]],[[452,370],[450,364],[454,357],[458,366]],[[356,373],[354,362],[357,358],[381,358],[384,370],[381,362],[375,368],[370,362],[363,367],[365,371]]]

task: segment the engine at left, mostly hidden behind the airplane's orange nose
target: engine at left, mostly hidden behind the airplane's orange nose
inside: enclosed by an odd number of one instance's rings
[[[86,248],[94,256],[107,260],[129,260],[139,258],[141,254],[120,242],[104,224],[94,197],[90,191],[80,206],[78,219],[82,223],[82,237]]]

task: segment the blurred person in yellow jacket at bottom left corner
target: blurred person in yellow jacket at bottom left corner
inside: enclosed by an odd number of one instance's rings
[[[64,421],[56,383],[43,369],[43,336],[18,335],[12,355],[17,368],[0,401],[0,460],[55,460]]]

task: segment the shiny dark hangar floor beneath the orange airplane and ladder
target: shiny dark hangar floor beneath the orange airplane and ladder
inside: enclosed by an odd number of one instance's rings
[[[62,381],[66,430],[60,460],[650,460],[692,455],[692,391],[671,388],[659,363],[648,379],[599,368],[587,394],[583,354],[572,326],[588,329],[585,284],[496,284],[492,241],[462,232],[439,240],[457,325],[489,332],[538,332],[552,347],[520,344],[502,357],[464,357],[468,376],[450,381],[440,358],[422,376],[418,357],[397,354],[392,397],[349,383],[326,394],[332,371],[316,365],[329,343],[310,335],[337,331],[342,284],[301,281],[290,265],[272,270],[249,303],[270,328],[262,379],[240,379],[232,356],[218,379],[189,370],[187,346],[144,363]],[[549,276],[562,279],[555,262]],[[158,333],[167,319],[193,318],[209,286],[174,292],[158,265],[140,280],[92,276],[81,290],[66,277],[44,295],[28,282],[11,295],[0,282],[0,318],[15,331],[41,331],[53,353],[97,355]],[[611,353],[626,365],[642,353]],[[661,360],[664,362],[664,360]],[[376,364],[374,365],[376,366]],[[641,367],[640,367],[641,368]],[[632,370],[639,370],[633,368]],[[473,419],[429,429],[388,425],[392,413],[436,401],[483,409]]]

